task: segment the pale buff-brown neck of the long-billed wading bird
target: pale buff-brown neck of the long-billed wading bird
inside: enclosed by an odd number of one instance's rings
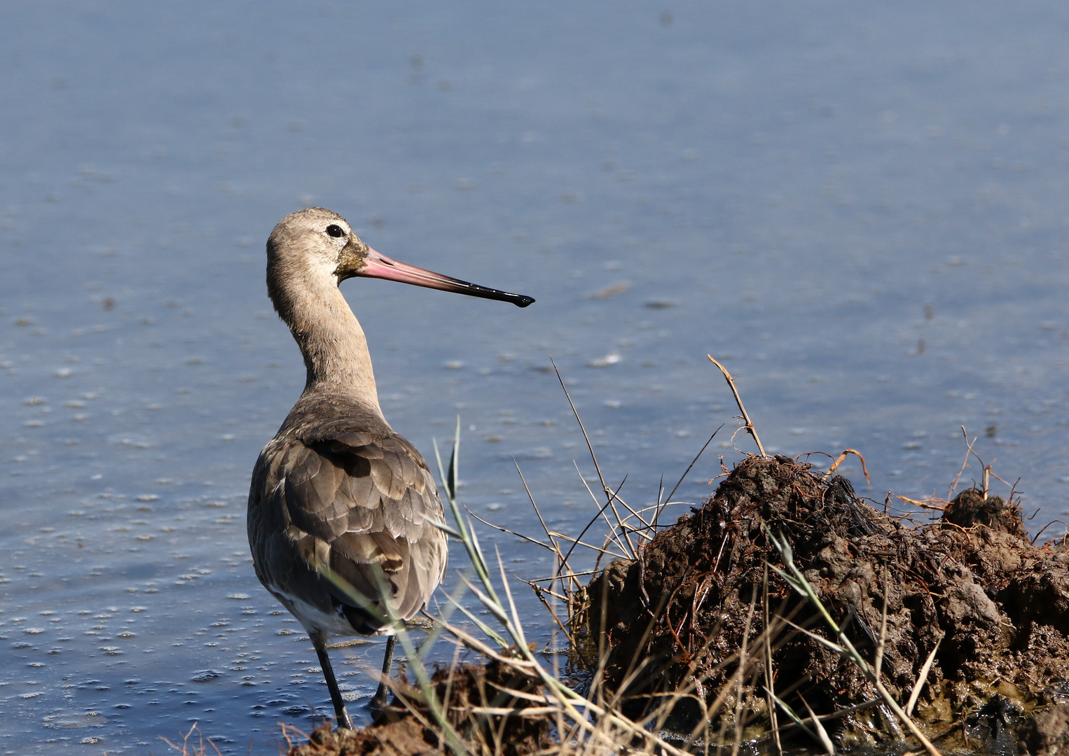
[[[348,302],[337,285],[303,299],[303,306],[281,314],[305,357],[305,393],[344,394],[382,415],[368,340]]]

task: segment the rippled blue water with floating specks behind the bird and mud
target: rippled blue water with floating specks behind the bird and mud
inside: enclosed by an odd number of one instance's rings
[[[707,352],[769,451],[856,448],[881,505],[945,494],[965,426],[1034,533],[1069,519],[1067,31],[1050,1],[5,4],[0,752],[199,722],[275,753],[329,711],[244,525],[304,381],[263,243],[308,205],[538,299],[343,284],[390,422],[432,457],[460,413],[463,500],[509,527],[539,531],[513,457],[555,527],[594,511],[551,356],[636,505],[726,423],[677,499],[708,495],[740,451]],[[359,716],[379,652],[336,652]]]

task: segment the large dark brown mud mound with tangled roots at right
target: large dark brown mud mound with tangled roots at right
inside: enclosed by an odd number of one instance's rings
[[[857,499],[845,477],[825,481],[787,457],[750,457],[692,513],[588,587],[590,640],[595,646],[604,633],[608,653],[605,684],[619,691],[645,662],[622,691],[632,713],[687,681],[712,702],[733,680],[752,601],[748,642],[763,630],[764,563],[783,564],[764,527],[787,538],[795,564],[869,660],[886,590],[883,676],[900,700],[939,644],[916,709],[921,722],[956,722],[996,694],[1031,708],[1069,675],[1069,554],[1033,547],[1011,503],[965,491],[944,520],[910,526]],[[824,634],[774,572],[768,585],[770,616]],[[855,666],[804,633],[786,628],[772,645],[777,693],[800,710],[799,694],[818,713],[877,697]],[[750,657],[744,715],[759,721],[766,677],[761,650]],[[850,721],[859,722],[840,720]]]

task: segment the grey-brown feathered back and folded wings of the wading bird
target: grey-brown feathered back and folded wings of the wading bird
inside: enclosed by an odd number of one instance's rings
[[[444,521],[419,452],[344,395],[306,392],[252,473],[257,577],[310,633],[382,631],[361,604],[385,614],[384,588],[394,617],[415,616],[445,574]]]

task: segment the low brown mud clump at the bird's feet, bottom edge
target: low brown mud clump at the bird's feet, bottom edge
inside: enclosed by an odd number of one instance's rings
[[[525,716],[538,704],[510,691],[540,696],[531,677],[497,661],[484,666],[462,664],[437,670],[432,678],[449,723],[469,753],[525,756],[551,747],[554,723],[546,716]],[[499,713],[508,710],[510,713]],[[291,747],[289,756],[414,756],[446,750],[434,718],[418,688],[394,690],[393,699],[374,724],[358,730],[316,728],[309,742]],[[431,726],[428,726],[430,724]]]

